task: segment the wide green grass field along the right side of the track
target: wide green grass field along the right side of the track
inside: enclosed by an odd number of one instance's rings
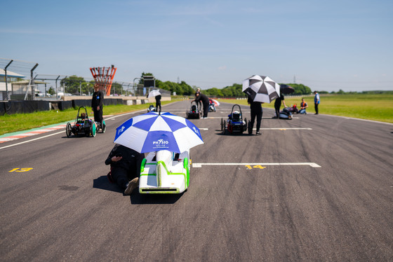
[[[307,113],[315,113],[314,96],[304,97],[308,104]],[[247,104],[246,99],[218,99],[220,102],[232,104]],[[302,97],[286,97],[287,106],[300,106]],[[274,109],[274,102],[262,104],[262,107]],[[282,109],[282,106],[281,106]],[[334,116],[347,116],[393,123],[393,95],[392,94],[345,94],[321,95],[319,113]]]

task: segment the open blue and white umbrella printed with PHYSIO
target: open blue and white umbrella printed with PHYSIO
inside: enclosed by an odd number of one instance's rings
[[[189,120],[172,113],[149,112],[117,127],[114,143],[140,153],[160,150],[182,153],[204,141],[199,128]]]

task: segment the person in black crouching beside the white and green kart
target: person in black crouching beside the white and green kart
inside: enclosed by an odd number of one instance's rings
[[[124,190],[124,195],[131,195],[138,187],[143,158],[145,154],[116,144],[105,160],[105,165],[111,166],[111,171],[107,174],[109,181],[116,183]]]

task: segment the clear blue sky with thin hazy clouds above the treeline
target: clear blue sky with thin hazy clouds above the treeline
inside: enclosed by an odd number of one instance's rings
[[[312,90],[393,90],[393,1],[2,1],[1,58],[46,75],[143,71],[202,89],[253,74]]]

